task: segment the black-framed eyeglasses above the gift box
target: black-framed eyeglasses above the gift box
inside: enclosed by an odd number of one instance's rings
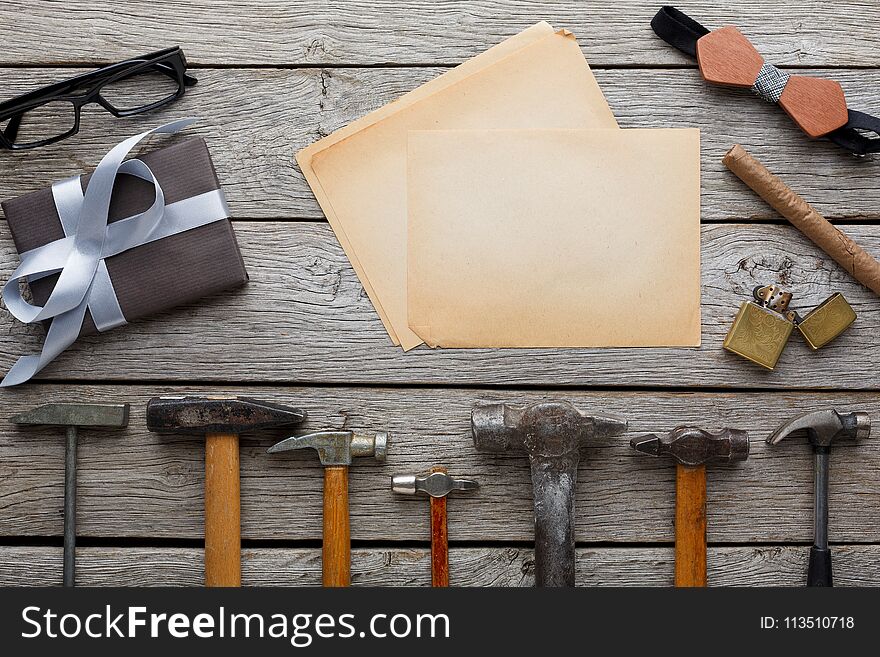
[[[37,148],[75,135],[89,103],[113,116],[149,112],[177,100],[197,81],[175,47],[57,82],[0,103],[0,147]]]

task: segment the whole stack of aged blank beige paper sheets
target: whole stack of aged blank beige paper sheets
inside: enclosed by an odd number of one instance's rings
[[[539,23],[297,161],[404,350],[698,346],[699,154]]]

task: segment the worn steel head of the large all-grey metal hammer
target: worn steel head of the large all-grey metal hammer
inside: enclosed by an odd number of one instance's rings
[[[565,401],[481,404],[471,415],[478,450],[523,450],[533,458],[576,452],[588,440],[620,433],[626,426],[623,420],[581,413]]]

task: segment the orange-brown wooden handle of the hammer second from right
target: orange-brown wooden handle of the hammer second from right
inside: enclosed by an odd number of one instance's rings
[[[675,585],[706,586],[706,466],[676,465]]]

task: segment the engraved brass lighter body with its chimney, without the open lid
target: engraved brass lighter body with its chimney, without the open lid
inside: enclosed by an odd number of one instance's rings
[[[752,294],[755,300],[740,306],[724,338],[724,348],[772,370],[795,327],[794,319],[784,315],[791,293],[776,285],[766,285],[755,288]]]

